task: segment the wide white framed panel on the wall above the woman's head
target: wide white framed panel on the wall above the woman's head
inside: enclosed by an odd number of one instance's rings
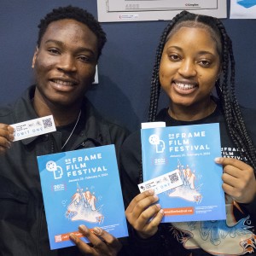
[[[100,22],[172,20],[182,10],[227,17],[226,0],[97,0]]]

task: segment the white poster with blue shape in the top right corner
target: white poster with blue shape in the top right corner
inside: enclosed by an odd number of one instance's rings
[[[230,0],[230,19],[256,19],[256,0]]]

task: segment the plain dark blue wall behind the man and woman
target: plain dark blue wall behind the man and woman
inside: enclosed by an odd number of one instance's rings
[[[0,1],[1,104],[12,102],[32,84],[38,22],[51,9],[67,4],[88,9],[97,16],[96,0]],[[239,102],[256,108],[256,20],[223,21],[234,44]],[[102,23],[108,43],[99,61],[99,84],[89,92],[89,97],[96,108],[119,119],[132,131],[147,118],[154,52],[166,23]],[[160,106],[166,106],[165,98]]]

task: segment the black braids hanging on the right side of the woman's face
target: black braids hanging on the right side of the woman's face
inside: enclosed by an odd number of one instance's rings
[[[242,148],[241,155],[247,163],[256,170],[256,151],[253,141],[249,137],[246,125],[241,115],[241,108],[236,99],[235,92],[235,59],[230,40],[224,25],[216,19],[216,25],[221,33],[223,43],[223,84],[216,84],[218,97],[224,111],[224,119],[230,137],[238,148]],[[230,68],[230,86],[229,86],[229,68]],[[254,171],[255,172],[255,171]]]

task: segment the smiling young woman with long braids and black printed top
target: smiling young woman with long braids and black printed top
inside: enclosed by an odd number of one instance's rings
[[[160,224],[164,213],[155,203],[158,197],[137,189],[143,180],[137,131],[121,150],[133,244],[140,255],[256,255],[256,112],[237,103],[232,43],[224,25],[216,18],[183,11],[166,26],[155,60],[148,121],[220,125],[225,158],[216,162],[224,170],[227,218]],[[157,114],[160,89],[170,103]]]

